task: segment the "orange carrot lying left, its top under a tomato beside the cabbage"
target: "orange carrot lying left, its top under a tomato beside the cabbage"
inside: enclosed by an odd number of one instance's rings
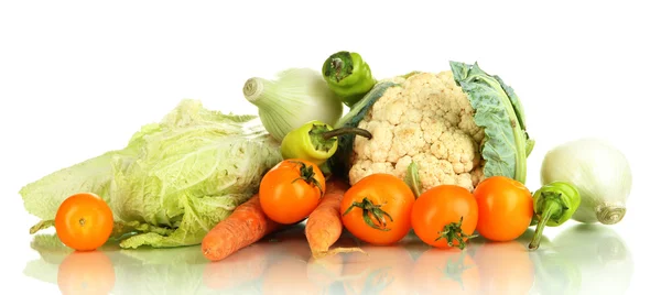
[[[254,195],[207,232],[202,240],[202,252],[208,260],[219,261],[280,227],[281,225],[267,217],[259,203],[259,195]]]

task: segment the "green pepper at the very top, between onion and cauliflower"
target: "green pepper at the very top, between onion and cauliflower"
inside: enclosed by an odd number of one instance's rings
[[[322,74],[330,90],[349,108],[377,84],[369,65],[353,52],[342,51],[330,55],[324,62]]]

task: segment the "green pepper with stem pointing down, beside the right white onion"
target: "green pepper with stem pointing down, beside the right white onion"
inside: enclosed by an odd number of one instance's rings
[[[540,247],[544,227],[557,227],[570,220],[581,205],[581,195],[568,183],[553,182],[534,192],[532,204],[538,225],[528,248],[535,250]]]

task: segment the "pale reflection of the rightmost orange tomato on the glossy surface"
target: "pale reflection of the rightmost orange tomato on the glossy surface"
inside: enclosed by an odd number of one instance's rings
[[[530,294],[534,284],[534,264],[529,240],[484,243],[475,252],[480,274],[480,294]]]

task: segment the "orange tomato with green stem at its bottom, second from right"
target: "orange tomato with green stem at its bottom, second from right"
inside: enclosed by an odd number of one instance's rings
[[[413,204],[411,211],[413,231],[420,240],[432,247],[451,248],[447,239],[436,241],[436,238],[445,226],[459,221],[465,236],[473,234],[478,222],[477,201],[464,187],[440,185],[422,193]],[[458,241],[455,240],[453,244],[458,245]]]

